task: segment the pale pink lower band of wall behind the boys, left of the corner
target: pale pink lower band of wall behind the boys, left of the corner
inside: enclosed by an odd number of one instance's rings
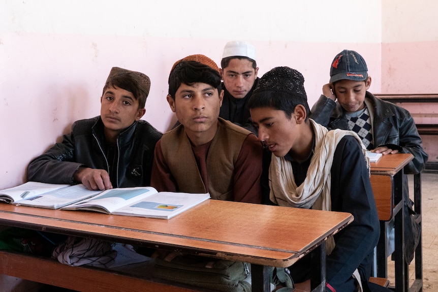
[[[70,132],[71,124],[99,115],[102,87],[113,66],[141,71],[151,79],[148,120],[165,132],[175,117],[166,102],[173,63],[205,54],[220,64],[228,40],[138,38],[130,36],[11,34],[2,39],[4,82],[0,82],[0,189],[24,182],[29,161]],[[259,76],[276,66],[299,70],[312,106],[328,82],[330,64],[342,49],[367,60],[372,88],[380,91],[380,44],[254,41]],[[117,45],[116,45],[117,44]],[[3,46],[3,47],[2,47]],[[29,46],[32,49],[29,49]],[[0,69],[2,70],[2,69]],[[0,73],[1,74],[1,73]]]

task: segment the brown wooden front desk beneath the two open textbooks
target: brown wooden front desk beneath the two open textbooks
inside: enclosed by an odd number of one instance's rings
[[[349,213],[215,200],[169,220],[0,204],[3,225],[251,263],[253,291],[269,291],[269,266],[289,267],[319,246],[321,283],[312,286],[315,291],[325,291],[325,240],[352,221]],[[0,269],[0,273],[20,277],[12,266]],[[47,283],[44,278],[39,281]],[[93,288],[85,288],[81,281],[57,284],[75,290]],[[86,284],[98,288],[92,281]],[[146,284],[140,290],[149,291]]]

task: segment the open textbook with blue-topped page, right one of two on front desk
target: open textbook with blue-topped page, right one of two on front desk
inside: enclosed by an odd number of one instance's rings
[[[158,192],[153,187],[108,189],[98,196],[62,207],[113,215],[169,219],[210,198],[209,193]]]

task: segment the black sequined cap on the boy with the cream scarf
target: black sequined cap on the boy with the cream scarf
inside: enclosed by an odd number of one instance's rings
[[[260,78],[253,94],[265,90],[285,92],[307,100],[303,75],[289,67],[275,67],[266,72]]]

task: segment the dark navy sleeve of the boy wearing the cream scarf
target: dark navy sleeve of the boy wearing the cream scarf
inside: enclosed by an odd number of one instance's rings
[[[349,291],[356,268],[366,285],[380,234],[369,170],[352,136],[343,138],[336,147],[331,182],[332,211],[349,212],[354,221],[334,237],[335,248],[327,256],[327,282],[336,291]]]

